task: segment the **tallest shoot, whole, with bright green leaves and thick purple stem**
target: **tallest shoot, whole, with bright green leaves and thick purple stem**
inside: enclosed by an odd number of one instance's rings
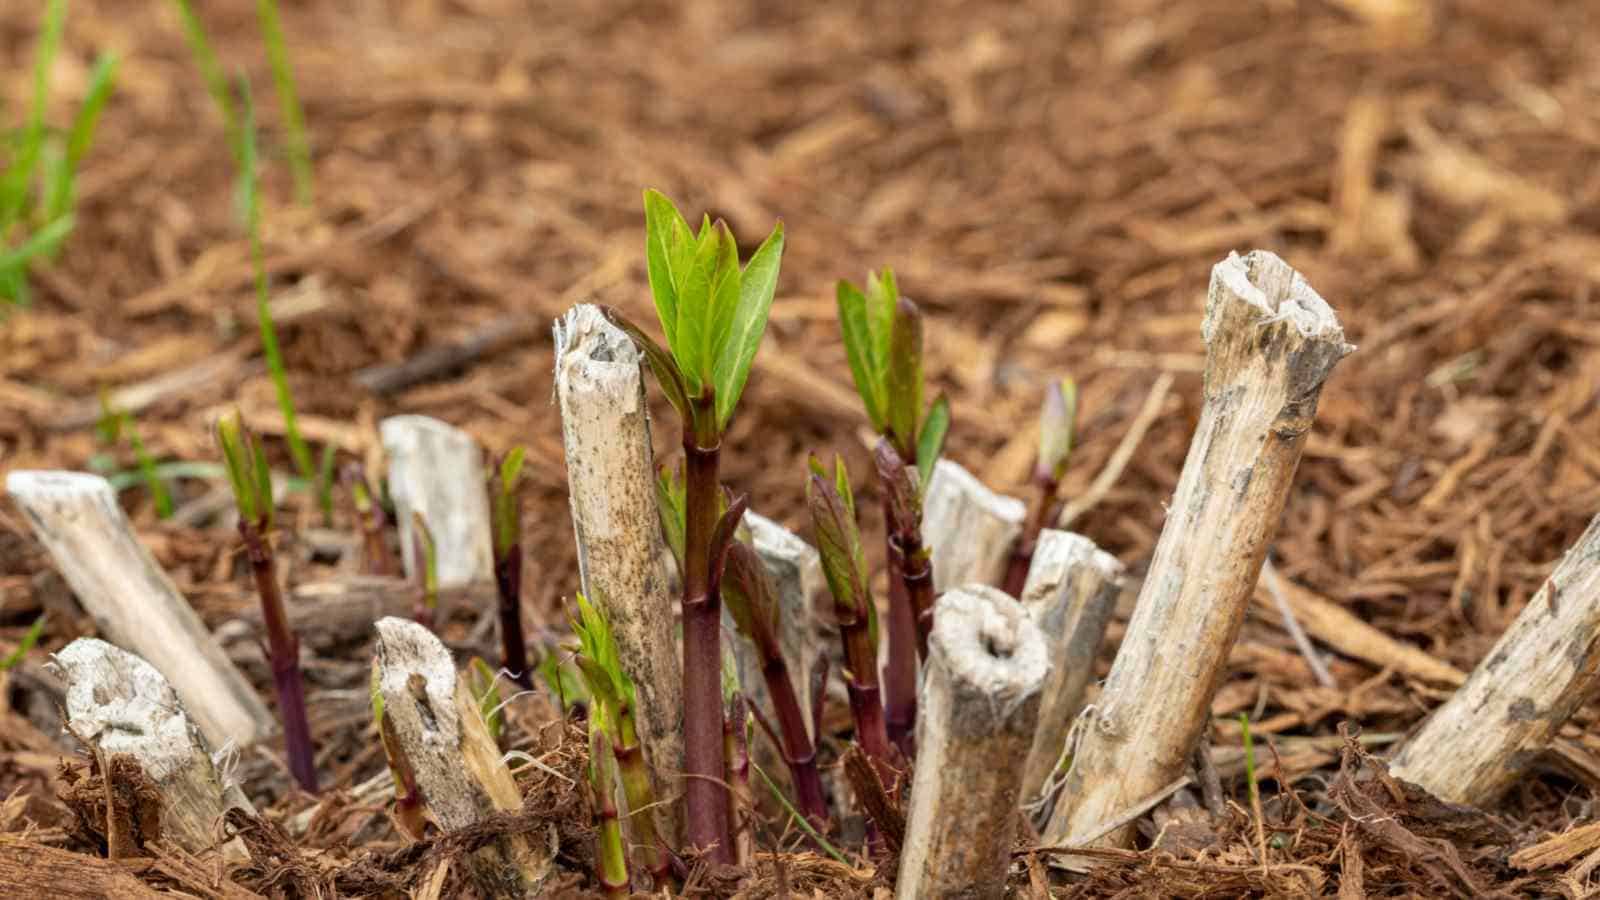
[[[741,266],[726,223],[707,216],[693,231],[667,197],[646,191],[645,263],[667,346],[606,309],[638,344],[683,424],[685,822],[690,844],[718,863],[733,860],[718,684],[722,599],[712,589],[712,540],[723,503],[718,453],[766,331],[782,250],[779,223]]]

